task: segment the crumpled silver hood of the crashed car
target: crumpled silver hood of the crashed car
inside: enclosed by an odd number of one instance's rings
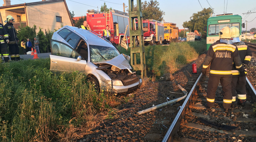
[[[111,60],[107,60],[107,61],[102,61],[102,62],[97,62],[94,64],[103,64],[103,63],[107,63],[110,64],[112,66],[117,67],[118,69],[131,69],[131,66],[129,64],[129,62],[126,60],[126,58],[124,57],[124,55],[120,54],[117,57],[111,59]]]

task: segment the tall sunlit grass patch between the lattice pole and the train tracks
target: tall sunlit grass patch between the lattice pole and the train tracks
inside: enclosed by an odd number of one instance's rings
[[[130,55],[130,48],[126,51],[126,49],[119,46],[118,50]],[[205,39],[196,42],[171,43],[166,46],[145,46],[147,71],[158,77],[165,73],[174,73],[205,51]],[[139,62],[138,60],[140,60],[139,56],[137,56],[137,62]]]

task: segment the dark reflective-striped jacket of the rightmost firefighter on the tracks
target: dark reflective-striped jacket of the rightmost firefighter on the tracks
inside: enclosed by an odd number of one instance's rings
[[[250,62],[250,59],[252,58],[252,51],[250,50],[250,48],[248,48],[247,45],[242,41],[235,43],[235,45],[238,49],[241,62],[248,64]],[[245,74],[246,73],[247,72],[245,71]],[[232,68],[232,75],[239,75],[239,74],[240,72],[235,68],[235,64],[234,64]]]

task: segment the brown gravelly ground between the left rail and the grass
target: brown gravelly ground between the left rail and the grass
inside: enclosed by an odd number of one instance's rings
[[[205,54],[194,61],[197,64],[197,74],[192,74],[192,62],[174,74],[165,74],[163,78],[157,81],[152,82],[149,79],[144,79],[143,85],[136,92],[128,94],[133,95],[133,97],[117,108],[119,113],[115,119],[105,121],[100,128],[95,130],[95,133],[86,135],[78,141],[161,141],[178,113],[183,100],[146,114],[138,115],[137,112],[184,96],[178,84],[189,92],[201,73],[204,58]]]

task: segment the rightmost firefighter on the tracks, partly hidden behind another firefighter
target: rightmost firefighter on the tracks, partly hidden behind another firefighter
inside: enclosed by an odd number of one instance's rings
[[[246,70],[246,66],[250,62],[250,59],[252,58],[252,51],[247,47],[247,45],[240,41],[239,39],[239,29],[235,26],[232,26],[230,28],[231,30],[231,38],[233,38],[232,42],[237,46],[239,56],[241,59],[241,62],[243,63],[243,67]],[[246,102],[246,74],[247,72],[239,72],[235,68],[235,64],[232,68],[232,106],[236,104],[236,94],[237,94],[237,104],[238,105],[244,105]]]

